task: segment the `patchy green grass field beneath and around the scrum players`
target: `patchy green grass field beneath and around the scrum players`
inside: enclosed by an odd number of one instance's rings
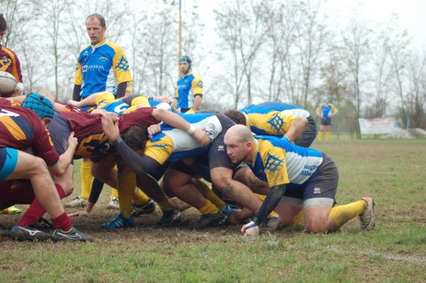
[[[285,228],[243,238],[240,226],[187,228],[198,217],[193,209],[179,228],[155,226],[156,211],[136,218],[137,228],[103,231],[100,225],[116,213],[105,209],[104,192],[90,218],[73,219],[93,243],[1,238],[0,282],[426,282],[426,140],[312,147],[337,162],[339,204],[375,199],[373,231],[360,233],[354,219],[327,235]],[[72,196],[80,192],[78,179]],[[0,216],[5,226],[17,219]]]

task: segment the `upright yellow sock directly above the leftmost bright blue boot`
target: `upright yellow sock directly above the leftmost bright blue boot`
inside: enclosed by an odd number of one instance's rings
[[[120,211],[123,213],[124,217],[129,218],[131,216],[131,199],[133,199],[136,188],[136,175],[131,171],[119,171],[118,180]]]

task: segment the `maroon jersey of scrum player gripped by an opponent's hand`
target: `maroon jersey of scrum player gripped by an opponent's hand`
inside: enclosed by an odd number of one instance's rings
[[[159,123],[153,116],[155,108],[140,108],[120,116],[120,133],[131,126],[151,126]],[[94,158],[109,153],[111,144],[102,129],[102,115],[86,112],[60,112],[78,140],[75,158]]]

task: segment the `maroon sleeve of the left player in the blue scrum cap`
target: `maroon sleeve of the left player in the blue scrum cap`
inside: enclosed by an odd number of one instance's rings
[[[49,131],[45,128],[40,119],[39,123],[34,123],[34,141],[33,150],[35,155],[43,158],[48,166],[54,165],[59,160],[58,152],[56,152],[53,141],[50,138]]]

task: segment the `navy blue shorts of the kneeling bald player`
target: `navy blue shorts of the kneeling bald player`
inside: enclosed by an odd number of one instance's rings
[[[334,161],[322,154],[323,160],[314,174],[303,184],[287,184],[281,203],[303,204],[304,208],[334,202],[339,172]]]

